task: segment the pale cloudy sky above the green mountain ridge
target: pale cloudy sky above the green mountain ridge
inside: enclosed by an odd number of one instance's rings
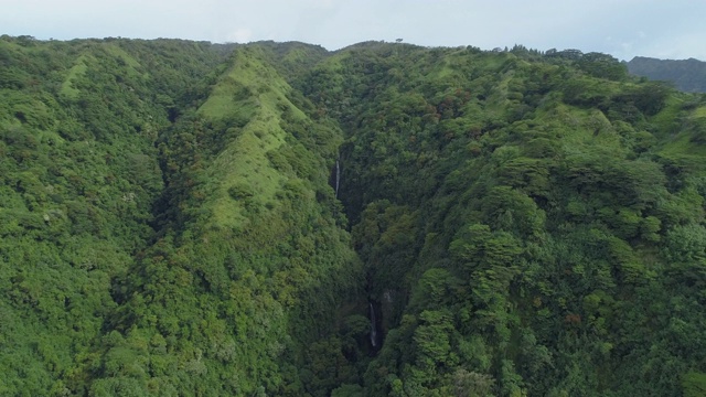
[[[706,61],[705,0],[0,0],[0,34],[38,39],[366,40]]]

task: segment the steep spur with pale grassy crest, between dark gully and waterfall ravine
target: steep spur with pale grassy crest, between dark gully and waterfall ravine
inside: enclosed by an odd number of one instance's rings
[[[330,360],[307,346],[335,330],[360,279],[328,185],[340,130],[292,104],[264,58],[236,49],[160,139],[163,163],[193,151],[168,175],[186,186],[172,200],[185,216],[140,254],[90,393],[300,395],[322,376],[300,373]]]

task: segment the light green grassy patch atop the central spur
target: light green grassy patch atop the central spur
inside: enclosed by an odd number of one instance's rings
[[[297,120],[306,118],[287,98],[291,87],[253,52],[242,50],[234,54],[233,67],[199,110],[207,119],[225,120],[238,129],[234,141],[206,171],[210,179],[220,181],[210,197],[215,227],[242,229],[247,222],[245,213],[268,211],[276,205],[275,195],[287,178],[272,167],[267,153],[285,143],[280,114],[290,111]],[[242,119],[233,120],[234,117]]]

